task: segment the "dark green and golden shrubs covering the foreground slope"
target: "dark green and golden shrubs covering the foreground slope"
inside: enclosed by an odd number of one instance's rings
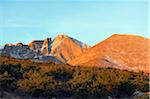
[[[79,67],[0,57],[1,90],[44,98],[130,97],[147,92],[148,76],[113,68]],[[3,97],[3,95],[1,95]]]

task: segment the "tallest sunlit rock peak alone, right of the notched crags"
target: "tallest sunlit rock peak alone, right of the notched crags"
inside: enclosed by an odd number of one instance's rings
[[[89,46],[66,35],[58,35],[51,44],[51,56],[66,63],[83,53]]]

